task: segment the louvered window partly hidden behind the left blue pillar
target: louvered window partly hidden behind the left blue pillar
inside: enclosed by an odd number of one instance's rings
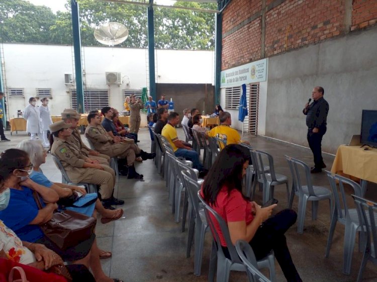
[[[109,106],[109,90],[86,89],[84,90],[84,111],[101,110]],[[77,110],[76,90],[71,90],[71,107]]]

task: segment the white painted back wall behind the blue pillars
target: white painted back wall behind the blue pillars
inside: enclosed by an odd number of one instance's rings
[[[214,52],[157,50],[157,83],[214,84]],[[24,88],[25,97],[8,97],[10,117],[23,110],[36,88],[51,88],[52,115],[70,107],[64,73],[72,73],[72,47],[61,45],[4,44],[7,87]],[[123,109],[123,89],[147,86],[146,49],[84,47],[86,88],[109,89],[110,106]],[[107,85],[105,72],[121,72],[123,84]],[[127,85],[128,84],[128,85]],[[40,104],[39,102],[37,103]]]

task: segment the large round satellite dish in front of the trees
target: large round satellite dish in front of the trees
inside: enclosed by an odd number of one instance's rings
[[[105,23],[96,28],[94,36],[98,42],[114,46],[121,44],[127,39],[128,29],[119,23]]]

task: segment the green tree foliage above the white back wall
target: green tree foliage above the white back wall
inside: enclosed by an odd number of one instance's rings
[[[120,46],[148,46],[147,8],[139,5],[77,0],[81,42],[102,46],[93,36],[96,27],[106,22],[124,24],[129,37]],[[174,6],[213,9],[216,4],[176,2]],[[68,12],[54,14],[45,6],[23,0],[0,2],[0,36],[3,42],[72,44],[70,0]],[[181,9],[154,9],[155,47],[164,49],[213,49],[215,16],[211,13]]]

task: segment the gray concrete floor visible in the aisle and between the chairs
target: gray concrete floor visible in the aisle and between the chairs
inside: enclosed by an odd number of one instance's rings
[[[12,142],[0,143],[4,151],[14,146],[27,134],[22,131],[7,137]],[[178,129],[183,139],[183,131]],[[303,132],[303,138],[306,137]],[[325,136],[326,138],[326,136]],[[83,138],[85,139],[85,138]],[[146,128],[139,132],[140,148],[150,150],[149,133]],[[270,153],[274,158],[275,171],[290,176],[284,155],[305,161],[313,165],[312,153],[309,149],[286,143],[276,142],[264,137],[249,139],[253,147]],[[85,140],[86,142],[86,140]],[[324,154],[324,161],[330,170],[334,156]],[[61,181],[61,175],[52,163],[50,156],[42,166],[44,173],[52,181]],[[152,161],[137,164],[137,171],[144,174],[144,182],[128,180],[121,177],[117,184],[115,195],[123,199],[125,204],[124,218],[108,224],[97,224],[98,244],[102,249],[111,250],[113,257],[102,260],[106,273],[124,281],[206,281],[208,280],[208,265],[211,246],[211,235],[207,233],[203,255],[202,275],[193,275],[194,250],[190,258],[185,257],[187,230],[180,232],[181,224],[174,223],[171,207],[168,204],[168,194],[165,182],[157,174]],[[315,185],[329,188],[324,173],[312,175]],[[290,183],[292,183],[290,181]],[[291,184],[290,184],[291,185]],[[375,186],[369,185],[366,197],[377,200]],[[350,193],[350,191],[349,191]],[[275,188],[275,196],[279,200],[276,211],[287,207],[285,186]],[[261,192],[256,192],[257,202],[261,201]],[[351,202],[351,199],[349,199]],[[298,199],[295,197],[293,209],[297,211]],[[307,207],[305,229],[303,234],[296,232],[296,224],[286,233],[296,267],[304,281],[355,281],[361,262],[361,253],[354,250],[351,275],[342,274],[343,234],[344,227],[338,224],[334,234],[330,257],[325,258],[325,247],[330,225],[328,201],[319,204],[319,215],[316,221],[311,220],[311,208]],[[357,243],[356,243],[357,245]],[[277,281],[285,281],[284,275],[276,263]],[[377,267],[367,263],[364,271],[365,281],[377,281]],[[231,272],[230,281],[247,281],[244,272]]]

